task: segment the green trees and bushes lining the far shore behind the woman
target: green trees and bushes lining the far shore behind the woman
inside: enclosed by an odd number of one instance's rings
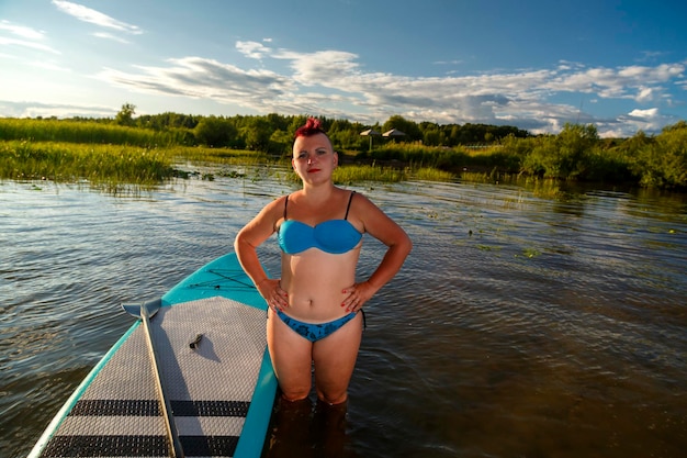
[[[290,157],[293,133],[306,115],[200,116],[161,113],[134,118],[125,104],[114,119],[0,119],[0,139],[112,143],[145,147],[210,146]],[[319,116],[335,149],[358,160],[395,161],[451,172],[477,168],[491,174],[606,181],[663,189],[687,189],[687,122],[657,135],[600,138],[593,124],[566,124],[559,134],[532,135],[514,126],[415,123],[399,115],[364,125]],[[403,131],[399,139],[370,138],[373,129]],[[372,147],[371,147],[372,145]],[[480,145],[484,149],[472,149]]]

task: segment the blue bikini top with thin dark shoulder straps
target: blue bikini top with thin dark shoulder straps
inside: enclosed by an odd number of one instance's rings
[[[351,208],[353,194],[348,200],[344,220],[329,220],[315,226],[295,220],[286,220],[286,205],[289,196],[284,202],[284,222],[277,234],[279,247],[288,255],[295,255],[308,248],[317,248],[333,255],[340,255],[356,248],[362,234],[348,221],[348,211]]]

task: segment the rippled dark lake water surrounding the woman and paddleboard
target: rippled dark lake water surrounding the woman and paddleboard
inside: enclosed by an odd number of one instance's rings
[[[687,196],[351,187],[414,241],[367,308],[344,447],[358,457],[682,457]],[[0,457],[24,457],[160,295],[295,189],[274,169],[139,196],[0,182]],[[365,238],[360,277],[384,253]],[[275,241],[261,248],[278,271]]]

